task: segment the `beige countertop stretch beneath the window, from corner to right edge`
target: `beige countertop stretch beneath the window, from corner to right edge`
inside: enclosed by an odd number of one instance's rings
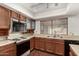
[[[77,41],[79,41],[79,36],[53,37],[52,35],[34,34],[33,37],[42,37],[42,38],[60,39],[60,40],[77,40]]]

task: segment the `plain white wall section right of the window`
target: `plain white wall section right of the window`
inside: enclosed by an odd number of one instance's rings
[[[68,34],[79,35],[79,15],[68,17]]]

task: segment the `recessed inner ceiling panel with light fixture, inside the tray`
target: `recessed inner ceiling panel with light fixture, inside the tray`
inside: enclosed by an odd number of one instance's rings
[[[45,12],[49,9],[57,10],[67,7],[67,3],[17,3],[18,5],[29,9],[33,13]]]

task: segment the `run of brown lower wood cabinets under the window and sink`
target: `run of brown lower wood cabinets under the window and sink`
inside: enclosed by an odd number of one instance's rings
[[[35,37],[31,41],[30,49],[35,48],[58,55],[64,55],[64,40]]]

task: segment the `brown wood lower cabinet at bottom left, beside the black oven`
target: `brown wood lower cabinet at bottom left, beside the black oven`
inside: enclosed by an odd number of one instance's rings
[[[0,47],[0,56],[16,56],[16,44],[8,44]]]

